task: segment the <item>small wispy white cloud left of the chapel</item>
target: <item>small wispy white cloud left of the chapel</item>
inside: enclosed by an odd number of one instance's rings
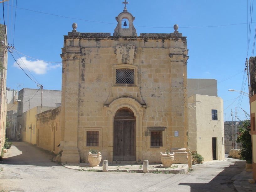
[[[48,62],[45,62],[45,61],[27,60],[27,58],[25,56],[20,57],[19,59],[17,59],[17,62],[19,63],[20,67],[24,71],[29,70],[30,72],[34,72],[35,74],[38,74],[38,75],[45,74],[47,71],[49,71],[51,69],[55,69],[57,67],[62,66],[61,64],[52,64],[52,63],[48,63]],[[17,67],[17,68],[20,68],[16,62],[13,63],[13,66]]]

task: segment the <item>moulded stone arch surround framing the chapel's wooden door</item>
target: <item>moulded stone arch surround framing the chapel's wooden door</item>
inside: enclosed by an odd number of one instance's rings
[[[113,134],[114,134],[114,116],[118,109],[121,109],[123,107],[128,107],[131,109],[134,113],[134,116],[136,117],[136,161],[138,162],[140,159],[142,159],[142,153],[139,152],[141,149],[142,144],[142,117],[144,114],[144,109],[142,105],[133,98],[118,98],[112,101],[109,104],[109,107],[107,107],[107,115],[108,115],[108,138],[109,138],[109,144],[108,147],[108,154],[110,156],[108,157],[110,162],[113,162]]]

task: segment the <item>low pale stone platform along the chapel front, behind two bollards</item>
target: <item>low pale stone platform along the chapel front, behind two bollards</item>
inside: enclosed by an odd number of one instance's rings
[[[102,163],[99,164],[99,167],[90,167],[89,163],[79,163],[79,164],[71,164],[66,163],[62,164],[66,168],[75,169],[79,171],[102,171]],[[143,165],[142,164],[109,164],[108,165],[109,172],[143,172]],[[169,168],[164,168],[162,164],[149,164],[148,165],[148,172],[155,173],[155,172],[162,172],[162,173],[180,173],[186,174],[189,171],[189,166],[187,164],[173,164]]]

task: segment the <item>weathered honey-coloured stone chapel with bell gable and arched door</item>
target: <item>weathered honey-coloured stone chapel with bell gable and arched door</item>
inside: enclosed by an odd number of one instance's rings
[[[160,163],[160,152],[189,163],[186,37],[136,34],[126,9],[110,33],[80,33],[62,48],[61,161]],[[191,162],[191,161],[190,161]]]

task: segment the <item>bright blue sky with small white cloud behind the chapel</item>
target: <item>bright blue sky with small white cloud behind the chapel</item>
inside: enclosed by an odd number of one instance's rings
[[[113,34],[117,24],[115,17],[124,9],[122,2],[124,0],[9,0],[0,3],[0,23],[5,21],[8,43],[15,46],[13,56],[8,53],[7,87],[18,90],[38,88],[39,83],[44,89],[61,90],[63,35],[72,31],[72,23],[77,23],[79,32]],[[224,101],[224,121],[231,121],[231,110],[235,114],[236,107],[237,117],[246,119],[242,109],[250,113],[248,97],[228,89],[248,93],[245,61],[246,57],[256,55],[256,50],[254,54],[252,51],[255,10],[251,30],[247,24],[251,1],[127,2],[128,12],[135,17],[138,35],[172,33],[173,25],[178,24],[179,32],[187,37],[188,78],[216,79],[218,96]],[[13,57],[36,83],[17,67]]]

